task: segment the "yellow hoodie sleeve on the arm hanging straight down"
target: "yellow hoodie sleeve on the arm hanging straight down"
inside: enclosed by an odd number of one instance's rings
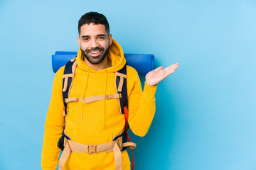
[[[62,94],[63,71],[63,67],[59,69],[53,80],[53,91],[43,136],[43,150],[41,155],[41,167],[43,170],[55,170],[58,165],[60,149],[57,145],[65,125]]]

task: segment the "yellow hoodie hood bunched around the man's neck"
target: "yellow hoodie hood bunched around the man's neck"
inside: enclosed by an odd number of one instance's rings
[[[100,69],[100,70],[95,70],[89,67],[85,61],[83,60],[84,56],[82,55],[81,49],[78,51],[78,55],[76,57],[76,60],[78,62],[78,68],[83,69],[89,72],[117,72],[119,69],[122,69],[124,67],[126,60],[124,58],[124,52],[122,50],[122,47],[119,45],[119,43],[115,40],[113,40],[112,45],[110,45],[110,50],[107,53],[107,56],[112,63],[112,67],[108,67],[106,69]]]

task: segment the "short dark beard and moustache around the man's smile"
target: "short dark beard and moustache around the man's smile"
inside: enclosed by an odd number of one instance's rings
[[[109,51],[109,47],[107,47],[106,49],[104,49],[103,47],[95,47],[95,48],[91,48],[90,50],[82,50],[80,47],[80,50],[82,52],[82,55],[85,56],[85,58],[87,59],[88,62],[90,62],[90,64],[100,64],[105,57],[107,56],[107,52]],[[90,56],[90,51],[97,51],[100,50],[101,54],[97,57],[92,57]]]

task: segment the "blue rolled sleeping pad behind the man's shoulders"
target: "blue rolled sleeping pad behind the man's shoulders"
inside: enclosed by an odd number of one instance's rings
[[[56,51],[52,55],[53,72],[57,72],[60,67],[75,58],[78,52]],[[154,55],[124,54],[127,65],[137,70],[140,76],[146,75],[154,69]]]

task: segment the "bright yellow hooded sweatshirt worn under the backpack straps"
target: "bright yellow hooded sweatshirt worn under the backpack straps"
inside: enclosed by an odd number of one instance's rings
[[[75,69],[70,98],[117,94],[115,72],[124,67],[126,60],[122,47],[115,40],[110,46],[107,57],[110,58],[112,67],[97,71],[85,64],[82,52],[79,50],[78,57],[76,57],[78,66]],[[60,149],[57,147],[57,142],[63,133],[64,126],[65,132],[71,140],[83,145],[100,145],[111,142],[112,138],[123,130],[125,124],[124,115],[119,110],[118,99],[85,104],[82,101],[68,103],[68,115],[63,118],[64,67],[58,70],[53,81],[53,91],[43,137],[41,159],[43,170],[55,170],[58,165]],[[155,113],[155,92],[156,86],[147,84],[145,84],[142,92],[136,70],[127,66],[129,126],[135,135],[144,136],[149,130]],[[115,169],[114,153],[72,152],[64,165],[64,169]],[[122,169],[130,169],[126,150],[122,152]]]

